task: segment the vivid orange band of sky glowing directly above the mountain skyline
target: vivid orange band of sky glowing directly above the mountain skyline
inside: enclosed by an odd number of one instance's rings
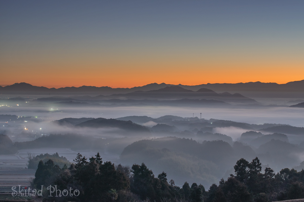
[[[64,71],[62,74],[17,74],[13,77],[5,75],[2,79],[1,86],[12,85],[14,83],[29,83],[34,86],[44,87],[80,87],[80,86],[109,86],[113,88],[131,88],[143,86],[151,83],[166,83],[166,84],[182,84],[182,85],[200,85],[207,83],[247,83],[260,81],[263,83],[278,83],[285,84],[291,81],[303,80],[304,70],[294,71],[273,71],[273,70],[227,70],[227,69],[210,69],[210,70],[183,70],[171,72],[170,70],[162,70],[161,73],[140,72],[120,70],[117,74],[105,74],[98,72],[87,73],[68,73]],[[67,76],[68,75],[68,76]],[[12,77],[12,78],[11,78]]]

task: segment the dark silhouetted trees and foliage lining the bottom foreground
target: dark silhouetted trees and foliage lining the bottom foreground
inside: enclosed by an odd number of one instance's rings
[[[167,174],[157,177],[142,163],[128,166],[114,166],[111,162],[102,162],[99,153],[87,159],[78,153],[76,162],[69,168],[60,169],[50,159],[40,161],[33,180],[33,187],[43,188],[44,201],[117,201],[117,202],[266,202],[304,198],[304,170],[297,172],[282,169],[275,174],[271,168],[261,173],[261,163],[256,157],[252,162],[240,159],[231,174],[219,185],[212,184],[208,191],[204,186],[185,182],[182,188],[168,183]],[[47,197],[48,186],[57,185],[57,189],[78,189],[78,197]]]

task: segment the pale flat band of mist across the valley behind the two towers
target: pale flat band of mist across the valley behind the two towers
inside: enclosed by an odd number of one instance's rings
[[[81,108],[52,108],[49,107],[1,107],[1,114],[17,116],[38,116],[43,121],[50,122],[61,118],[118,118],[125,116],[149,116],[152,118],[164,115],[176,115],[181,117],[196,116],[205,119],[222,119],[250,124],[281,123],[297,127],[303,127],[304,108],[268,107],[268,108],[197,108],[197,107],[173,107],[173,106],[128,106],[128,107],[81,107]],[[194,115],[193,115],[194,114]]]

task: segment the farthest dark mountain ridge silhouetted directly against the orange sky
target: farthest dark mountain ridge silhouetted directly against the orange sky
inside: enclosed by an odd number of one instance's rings
[[[182,87],[186,90],[198,91],[202,88],[211,91],[277,91],[277,92],[303,92],[304,91],[304,80],[292,81],[286,84],[277,83],[262,83],[262,82],[248,82],[248,83],[237,83],[237,84],[201,84],[195,86],[188,85],[173,85],[173,84],[147,84],[140,87],[132,88],[111,88],[107,86],[95,87],[95,86],[81,86],[81,87],[61,87],[61,88],[47,88],[33,86],[27,83],[15,83],[9,86],[0,86],[0,93],[6,94],[22,94],[22,93],[43,93],[43,94],[55,94],[55,93],[81,93],[81,92],[95,92],[95,93],[130,93],[135,91],[155,91],[166,87]],[[211,92],[209,91],[209,92]],[[206,91],[204,91],[206,92]]]

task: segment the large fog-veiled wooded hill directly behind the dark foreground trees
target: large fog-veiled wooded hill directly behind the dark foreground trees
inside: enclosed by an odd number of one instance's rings
[[[187,180],[188,183],[210,185],[212,180],[219,180],[233,167],[232,162],[239,158],[238,155],[249,159],[255,157],[250,147],[239,144],[232,147],[223,141],[198,143],[176,137],[140,140],[127,146],[120,159],[126,165],[145,162],[156,173],[167,172],[168,179],[174,179],[176,184]],[[242,154],[239,151],[243,151]]]

